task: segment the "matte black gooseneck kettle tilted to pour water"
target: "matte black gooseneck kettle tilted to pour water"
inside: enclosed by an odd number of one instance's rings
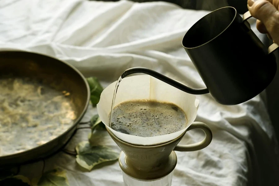
[[[275,76],[277,65],[273,43],[266,48],[251,30],[250,12],[239,15],[233,7],[223,7],[202,17],[185,34],[182,45],[207,88],[192,89],[151,69],[127,69],[145,73],[190,93],[210,93],[220,104],[243,103],[263,91]]]

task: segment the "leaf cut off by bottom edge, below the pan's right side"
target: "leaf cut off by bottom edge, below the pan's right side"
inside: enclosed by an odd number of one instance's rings
[[[38,181],[38,186],[69,186],[66,172],[60,168],[47,171]]]

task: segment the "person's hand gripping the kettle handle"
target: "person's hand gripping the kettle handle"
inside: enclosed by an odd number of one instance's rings
[[[248,0],[247,7],[259,32],[279,44],[279,0]]]

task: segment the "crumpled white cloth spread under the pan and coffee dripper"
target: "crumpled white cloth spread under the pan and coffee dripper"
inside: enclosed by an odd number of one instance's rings
[[[194,88],[204,87],[181,40],[207,13],[166,2],[2,0],[0,49],[35,51],[65,60],[86,77],[98,77],[104,87],[135,66],[157,70]],[[255,20],[251,23],[255,30]],[[213,140],[200,151],[176,152],[172,185],[279,185],[276,141],[263,99],[258,95],[244,104],[224,106],[210,95],[198,98],[196,121],[210,126]],[[95,108],[89,109],[83,121],[94,113]],[[79,130],[67,148],[73,150],[87,140],[88,133]],[[106,132],[102,135],[101,144],[119,151]],[[201,138],[200,131],[189,131],[181,143]],[[54,165],[67,170],[71,186],[123,185],[118,162],[86,172],[74,157],[60,152],[46,160],[46,170]],[[42,162],[36,162],[21,166],[20,174],[32,179],[41,170]]]

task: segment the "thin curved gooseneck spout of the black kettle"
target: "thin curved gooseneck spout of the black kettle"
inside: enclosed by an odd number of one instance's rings
[[[121,78],[125,78],[126,76],[133,74],[133,73],[145,73],[148,74],[150,76],[153,76],[154,78],[157,78],[163,82],[166,82],[167,84],[174,86],[175,88],[178,88],[181,91],[187,92],[189,94],[195,94],[195,95],[201,95],[201,94],[207,94],[209,93],[207,88],[201,88],[201,89],[193,89],[190,88],[188,86],[185,86],[171,78],[168,78],[166,76],[164,76],[163,74],[160,74],[154,70],[151,69],[147,69],[144,67],[134,67],[134,68],[130,68],[124,71],[124,73],[122,73]]]

